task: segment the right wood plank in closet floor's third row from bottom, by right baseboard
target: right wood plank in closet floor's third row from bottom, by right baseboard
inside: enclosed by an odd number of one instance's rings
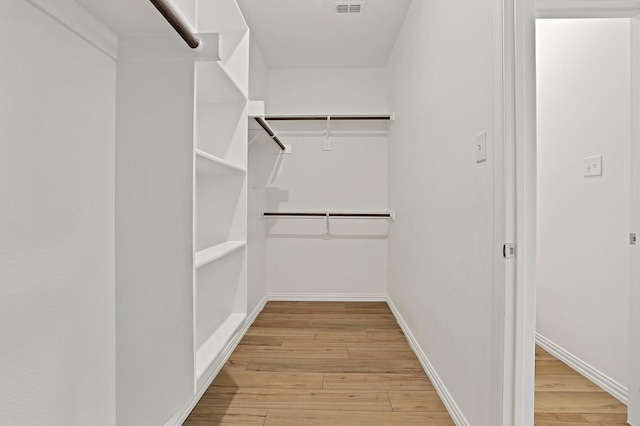
[[[324,374],[324,389],[334,390],[435,390],[424,374]]]

